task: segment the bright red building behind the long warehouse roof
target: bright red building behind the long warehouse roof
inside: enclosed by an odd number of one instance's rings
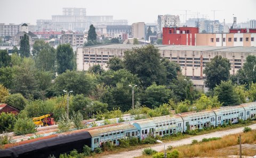
[[[163,45],[195,46],[195,34],[199,28],[163,28]]]

